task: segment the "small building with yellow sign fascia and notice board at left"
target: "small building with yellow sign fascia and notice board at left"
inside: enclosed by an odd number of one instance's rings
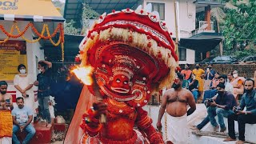
[[[7,2],[7,1],[6,1]],[[14,26],[14,32],[12,35],[18,35],[18,30],[15,29],[14,23],[17,22],[17,26],[20,31],[25,30],[26,26],[32,22],[34,28],[41,34],[43,24],[49,27],[50,34],[54,32],[58,23],[64,22],[64,18],[58,12],[56,7],[51,1],[40,0],[26,0],[24,2],[10,0],[9,4],[2,2],[0,5],[0,26],[2,30],[6,30],[10,33],[12,26]],[[8,41],[2,42],[7,38],[7,35],[0,30],[0,59],[6,60],[1,63],[0,80],[8,82],[8,90],[10,94],[15,98],[15,88],[13,78],[15,74],[18,74],[18,65],[24,64],[26,71],[30,74],[34,80],[38,74],[38,61],[44,60],[45,51],[43,50],[44,42],[26,42],[24,38],[32,41],[38,38],[38,35],[33,30],[28,28],[23,37],[9,38]],[[46,36],[46,33],[45,33]],[[54,39],[54,38],[53,38]],[[12,45],[12,46],[11,46]],[[20,46],[19,46],[20,45]],[[17,48],[24,49],[25,52],[18,53]],[[16,49],[16,50],[15,50]],[[12,55],[11,53],[15,53]],[[9,54],[9,55],[8,55]],[[36,93],[37,87],[34,86],[34,92]]]

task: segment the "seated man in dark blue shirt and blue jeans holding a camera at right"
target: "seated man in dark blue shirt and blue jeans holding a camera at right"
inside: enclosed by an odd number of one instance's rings
[[[219,83],[217,85],[218,96],[213,100],[213,102],[209,103],[207,113],[210,119],[210,123],[214,126],[214,131],[218,131],[218,124],[215,120],[215,116],[218,116],[218,123],[221,126],[221,132],[226,130],[226,126],[224,124],[223,116],[228,117],[230,114],[234,114],[232,108],[236,106],[236,101],[234,95],[230,92],[225,91],[225,85],[223,83]]]

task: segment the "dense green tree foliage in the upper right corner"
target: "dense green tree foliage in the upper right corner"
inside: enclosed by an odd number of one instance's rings
[[[226,50],[238,49],[241,42],[253,43],[256,39],[256,1],[242,2],[232,0],[237,9],[226,9],[223,34]],[[255,49],[254,45],[250,45]],[[246,46],[240,47],[243,50]]]

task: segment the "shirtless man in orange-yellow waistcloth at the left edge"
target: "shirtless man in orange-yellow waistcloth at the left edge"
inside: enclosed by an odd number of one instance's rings
[[[7,82],[0,82],[0,143],[11,144],[13,122],[10,110],[14,109],[13,98],[6,94]]]

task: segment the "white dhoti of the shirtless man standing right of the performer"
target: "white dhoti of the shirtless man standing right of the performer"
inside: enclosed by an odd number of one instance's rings
[[[173,117],[167,114],[167,141],[174,144],[187,144],[188,130],[186,114],[181,117]]]

